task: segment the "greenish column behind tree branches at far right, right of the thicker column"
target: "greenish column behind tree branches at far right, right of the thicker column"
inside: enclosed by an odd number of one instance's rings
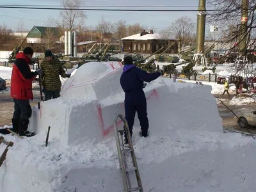
[[[242,0],[241,4],[241,25],[239,30],[239,52],[240,56],[246,53],[246,42],[247,42],[247,22],[248,22],[248,0]]]

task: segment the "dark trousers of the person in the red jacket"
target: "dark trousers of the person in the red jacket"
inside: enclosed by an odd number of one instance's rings
[[[12,118],[13,131],[24,135],[28,129],[29,118],[32,115],[32,109],[29,100],[13,99],[14,112]]]

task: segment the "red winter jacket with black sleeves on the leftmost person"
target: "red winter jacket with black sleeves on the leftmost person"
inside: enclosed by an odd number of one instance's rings
[[[15,59],[12,67],[11,97],[13,99],[33,100],[32,81],[37,73],[31,72],[30,59],[23,52],[19,52]]]

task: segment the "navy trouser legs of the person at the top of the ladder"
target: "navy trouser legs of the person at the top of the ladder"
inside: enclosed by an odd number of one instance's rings
[[[128,122],[131,136],[132,136],[132,127],[134,124],[136,111],[138,114],[138,119],[140,120],[142,136],[147,135],[148,114],[147,114],[147,100],[145,97],[145,93],[142,90],[141,92],[125,93],[124,106],[125,106],[125,119]]]

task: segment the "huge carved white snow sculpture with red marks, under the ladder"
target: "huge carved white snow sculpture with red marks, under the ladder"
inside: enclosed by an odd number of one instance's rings
[[[120,74],[118,62],[86,63],[63,84],[61,98],[33,108],[30,129],[38,134],[6,136],[14,146],[0,169],[1,191],[123,191],[111,133],[124,114]],[[211,86],[159,78],[145,95],[150,136],[138,136],[136,118],[132,137],[144,191],[253,191],[256,143],[223,134]]]

